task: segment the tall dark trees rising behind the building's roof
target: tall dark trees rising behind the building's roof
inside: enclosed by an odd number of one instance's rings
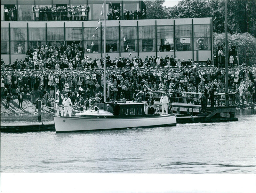
[[[164,1],[144,1],[148,19],[213,18],[213,32],[225,32],[225,0],[183,0],[173,7]],[[229,33],[249,32],[256,37],[256,0],[228,0]]]

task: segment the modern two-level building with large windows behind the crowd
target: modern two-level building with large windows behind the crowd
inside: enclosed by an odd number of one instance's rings
[[[104,54],[104,18],[100,16],[104,1],[79,0],[8,0],[1,1],[1,58],[5,63],[16,58],[25,58],[28,48],[41,45],[70,45],[81,43],[84,55],[90,58]],[[7,4],[8,3],[8,4]],[[61,4],[60,4],[61,3]],[[114,1],[115,7],[121,10],[145,9],[142,1]],[[112,2],[112,7],[114,6]],[[34,5],[40,6],[77,6],[90,7],[88,20],[48,20],[34,21]],[[4,21],[4,8],[17,7],[18,21]],[[110,4],[107,4],[107,12]],[[123,9],[124,8],[124,9]],[[31,15],[32,14],[32,15]],[[107,20],[106,52],[111,59],[129,56],[128,45],[132,56],[177,55],[179,59],[206,61],[212,55],[212,18],[184,19],[132,19]],[[66,18],[67,19],[67,18]],[[98,20],[100,19],[100,24]],[[98,28],[97,28],[98,27]],[[95,31],[95,29],[97,30]],[[94,37],[93,37],[94,35]],[[125,42],[124,42],[125,38]],[[93,46],[92,46],[93,41]],[[90,52],[87,50],[90,49]]]

